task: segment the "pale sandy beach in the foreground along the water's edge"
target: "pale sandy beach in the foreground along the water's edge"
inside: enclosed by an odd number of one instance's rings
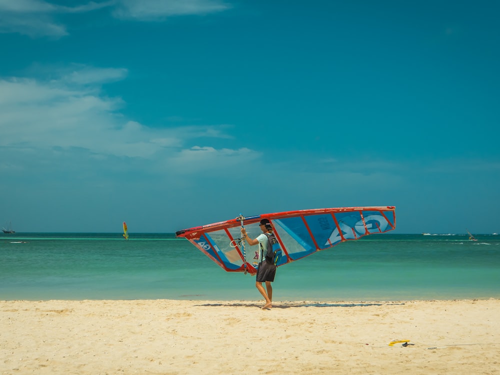
[[[261,305],[0,301],[0,373],[500,373],[498,299]]]

